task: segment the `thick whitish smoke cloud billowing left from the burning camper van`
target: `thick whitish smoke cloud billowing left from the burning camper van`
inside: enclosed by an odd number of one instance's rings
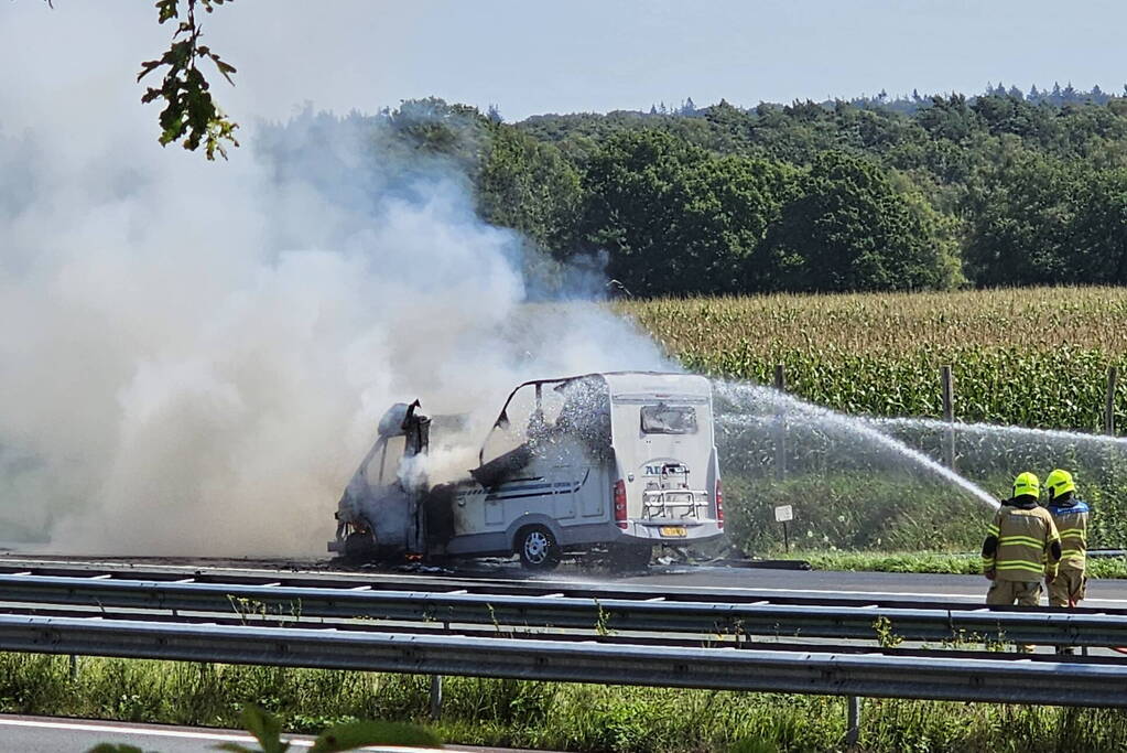
[[[162,151],[153,110],[115,107],[131,71],[82,116],[50,105],[69,69],[0,90],[3,538],[323,552],[391,402],[474,411],[480,440],[520,381],[662,364],[594,304],[525,304],[524,243],[461,176],[392,180],[348,140],[290,144],[281,172],[252,133],[230,163]]]

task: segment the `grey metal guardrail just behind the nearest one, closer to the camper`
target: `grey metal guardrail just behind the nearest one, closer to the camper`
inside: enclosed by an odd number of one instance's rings
[[[167,583],[46,576],[0,576],[0,601],[172,612],[245,610],[277,618],[367,618],[412,622],[873,640],[878,618],[888,635],[913,641],[1006,640],[1063,646],[1127,645],[1127,613],[797,606],[367,591],[213,583]]]

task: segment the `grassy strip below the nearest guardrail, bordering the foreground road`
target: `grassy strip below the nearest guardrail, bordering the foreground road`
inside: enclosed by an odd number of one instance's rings
[[[255,702],[287,729],[357,718],[424,720],[427,679],[365,672],[0,654],[0,709],[237,727]],[[447,679],[436,730],[452,743],[559,751],[842,750],[838,698]],[[1120,751],[1127,715],[869,699],[866,751]]]

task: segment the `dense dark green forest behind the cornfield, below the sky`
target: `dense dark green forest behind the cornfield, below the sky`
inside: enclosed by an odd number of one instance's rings
[[[452,165],[482,219],[636,295],[1127,283],[1127,98],[1098,88],[514,124],[432,98],[307,112],[264,149],[292,130],[325,145],[310,159],[347,133],[384,172]]]

